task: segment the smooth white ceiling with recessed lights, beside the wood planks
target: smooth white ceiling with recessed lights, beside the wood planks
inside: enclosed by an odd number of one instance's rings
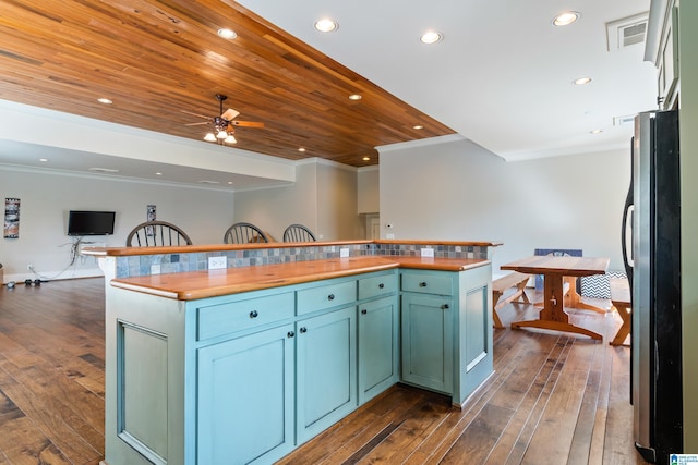
[[[606,38],[606,23],[647,12],[650,0],[238,2],[507,160],[625,148],[631,125],[614,125],[614,118],[657,107],[657,72],[642,61],[643,45],[609,51]],[[580,20],[554,27],[553,16],[566,10]],[[313,23],[327,15],[339,29],[321,34]],[[419,36],[430,28],[444,39],[425,46]],[[591,84],[571,84],[582,76]],[[0,164],[35,160],[45,149],[0,140]],[[70,171],[70,152],[58,154],[52,159],[64,163],[51,164]],[[95,167],[109,164],[127,178],[157,180],[156,171],[168,170],[182,184],[270,185],[233,168],[92,156]]]

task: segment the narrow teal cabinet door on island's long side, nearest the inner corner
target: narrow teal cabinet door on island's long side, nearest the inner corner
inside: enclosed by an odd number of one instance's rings
[[[395,297],[359,305],[359,404],[398,380],[398,313]]]

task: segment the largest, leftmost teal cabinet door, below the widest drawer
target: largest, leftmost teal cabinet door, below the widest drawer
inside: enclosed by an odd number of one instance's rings
[[[293,448],[293,325],[198,350],[197,463],[270,463]]]

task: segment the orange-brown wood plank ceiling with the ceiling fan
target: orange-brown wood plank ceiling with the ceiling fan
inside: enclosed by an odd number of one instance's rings
[[[264,123],[236,148],[291,160],[375,164],[375,146],[454,133],[231,0],[2,1],[0,99],[202,139],[188,123],[216,94]]]

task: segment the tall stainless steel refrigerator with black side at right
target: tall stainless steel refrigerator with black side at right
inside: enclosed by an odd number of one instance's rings
[[[638,452],[683,452],[678,111],[635,119],[622,244],[633,304],[630,402]],[[631,227],[630,227],[631,225]]]

